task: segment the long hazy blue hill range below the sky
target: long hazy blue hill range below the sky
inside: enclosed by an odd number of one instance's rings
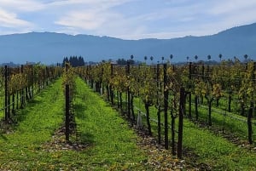
[[[172,61],[219,60],[233,59],[234,56],[243,60],[244,54],[256,60],[256,23],[237,26],[218,34],[204,37],[180,37],[172,39],[141,39],[122,40],[113,37],[96,37],[89,35],[71,36],[54,32],[29,32],[0,36],[0,63],[26,61],[52,64],[61,62],[64,56],[81,55],[85,61],[129,59],[142,60],[144,56],[154,56],[154,62],[164,56]],[[149,62],[149,61],[148,61]]]

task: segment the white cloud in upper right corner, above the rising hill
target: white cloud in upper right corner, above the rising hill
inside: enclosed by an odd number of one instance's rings
[[[226,0],[215,1],[203,14],[208,22],[201,22],[199,28],[210,33],[224,31],[234,26],[252,24],[256,21],[256,1]]]

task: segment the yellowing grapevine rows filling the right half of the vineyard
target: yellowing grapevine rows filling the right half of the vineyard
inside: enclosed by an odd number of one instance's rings
[[[175,126],[172,124],[175,123],[175,119],[179,117],[177,132],[182,134],[183,116],[198,121],[199,108],[202,106],[207,106],[207,123],[212,126],[212,111],[216,111],[212,109],[213,102],[216,103],[214,107],[220,111],[229,112],[230,116],[237,118],[238,121],[247,121],[247,140],[252,144],[256,93],[255,66],[253,62],[243,64],[239,61],[223,61],[219,66],[191,62],[184,66],[115,66],[102,63],[97,66],[79,67],[76,72],[87,80],[91,88],[104,94],[113,105],[117,98],[118,107],[125,111],[131,123],[136,123],[134,100],[142,100],[146,111],[148,134],[152,134],[149,107],[155,106],[159,142],[160,113],[164,112],[164,138],[165,146],[168,148],[167,112],[172,116],[171,127],[174,137]],[[235,102],[239,103],[239,107],[234,107]],[[237,114],[240,115],[236,117]],[[182,135],[178,137],[177,141],[182,141]],[[172,145],[174,144],[172,140]]]

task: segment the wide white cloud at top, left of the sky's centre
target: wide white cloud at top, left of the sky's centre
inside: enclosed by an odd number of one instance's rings
[[[83,3],[84,9],[68,11],[64,16],[61,16],[59,20],[56,20],[55,24],[78,28],[84,31],[104,30],[104,26],[108,26],[109,23],[113,24],[123,19],[122,14],[113,12],[111,8],[126,2],[127,0],[70,0],[66,3]],[[63,3],[61,3],[61,5],[63,5]]]

